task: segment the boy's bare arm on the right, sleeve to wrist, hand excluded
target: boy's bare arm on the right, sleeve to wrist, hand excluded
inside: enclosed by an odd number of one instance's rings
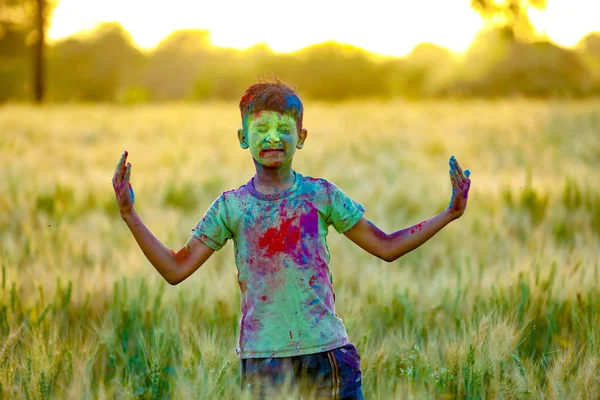
[[[388,235],[362,217],[344,235],[375,257],[392,262],[428,241],[454,219],[446,209],[435,217]]]

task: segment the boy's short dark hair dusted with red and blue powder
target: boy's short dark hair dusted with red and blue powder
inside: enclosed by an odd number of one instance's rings
[[[275,75],[273,82],[258,78],[258,83],[250,85],[240,100],[240,113],[244,131],[248,131],[248,117],[261,111],[276,111],[288,114],[296,121],[298,132],[302,129],[304,107],[298,93]]]

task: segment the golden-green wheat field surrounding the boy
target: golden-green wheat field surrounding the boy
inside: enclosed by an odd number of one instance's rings
[[[384,231],[462,218],[393,263],[333,229],[336,312],[368,399],[600,396],[600,101],[305,102],[294,169]],[[233,244],[178,286],[120,219],[178,250],[254,174],[234,103],[0,108],[0,398],[240,397]]]

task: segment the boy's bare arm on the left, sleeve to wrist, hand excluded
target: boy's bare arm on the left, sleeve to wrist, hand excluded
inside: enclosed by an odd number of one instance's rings
[[[202,266],[215,252],[195,237],[191,237],[177,253],[166,247],[144,225],[135,210],[122,215],[142,252],[159,274],[171,285],[177,285]]]

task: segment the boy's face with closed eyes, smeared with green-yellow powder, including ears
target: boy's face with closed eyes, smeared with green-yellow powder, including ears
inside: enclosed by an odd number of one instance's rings
[[[261,111],[248,117],[247,132],[238,130],[243,149],[250,148],[255,162],[264,167],[279,168],[292,162],[296,149],[301,149],[307,131],[298,132],[296,121],[290,115],[276,111]]]

